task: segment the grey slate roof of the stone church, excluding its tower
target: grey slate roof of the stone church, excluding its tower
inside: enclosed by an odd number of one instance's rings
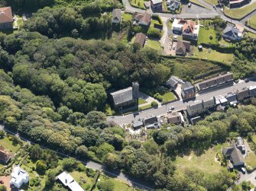
[[[133,94],[132,94],[132,88],[125,88],[123,90],[120,91],[115,91],[110,93],[113,97],[114,103],[115,105],[118,105],[120,103],[125,103],[129,100],[133,100]]]

